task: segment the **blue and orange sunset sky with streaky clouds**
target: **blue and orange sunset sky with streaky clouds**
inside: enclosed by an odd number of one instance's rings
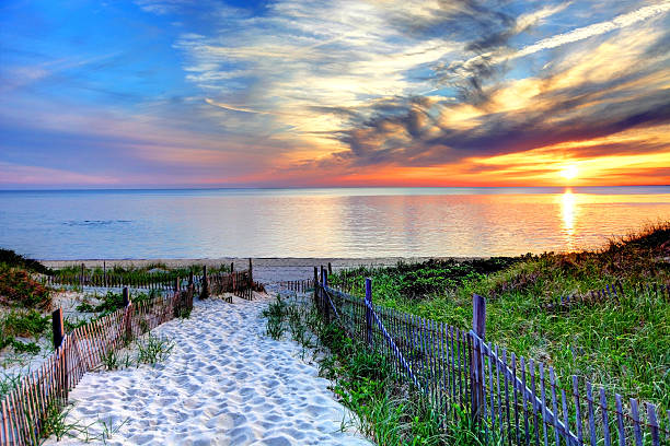
[[[670,1],[0,3],[0,188],[670,184]]]

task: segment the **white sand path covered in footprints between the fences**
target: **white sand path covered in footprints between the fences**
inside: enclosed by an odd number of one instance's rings
[[[267,302],[196,302],[189,319],[153,330],[178,341],[164,363],[88,373],[70,394],[68,421],[115,427],[127,419],[107,445],[370,445],[339,432],[350,415],[300,347],[265,336]]]

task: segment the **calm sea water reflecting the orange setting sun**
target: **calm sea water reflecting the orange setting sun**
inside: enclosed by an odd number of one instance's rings
[[[39,259],[518,255],[661,219],[668,186],[0,191],[0,246]]]

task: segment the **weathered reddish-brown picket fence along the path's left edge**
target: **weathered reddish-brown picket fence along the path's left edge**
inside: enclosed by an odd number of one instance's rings
[[[54,353],[0,402],[0,445],[41,444],[49,412],[67,404],[69,391],[84,373],[101,366],[109,352],[193,308],[193,296],[189,286],[132,303],[125,289],[123,308],[69,333],[62,330],[62,310],[54,312]]]

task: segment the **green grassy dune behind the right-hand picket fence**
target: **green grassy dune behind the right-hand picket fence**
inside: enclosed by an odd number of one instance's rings
[[[477,293],[487,298],[487,340],[553,366],[563,387],[574,374],[670,408],[670,302],[661,293],[633,291],[640,283],[670,283],[670,223],[601,250],[527,255],[499,265],[497,271],[473,271],[467,263],[431,261],[413,266],[412,274],[404,265],[358,269],[334,274],[331,283],[362,296],[369,275],[376,304],[465,329]],[[562,296],[588,296],[612,283],[623,286],[625,297],[547,308]]]

